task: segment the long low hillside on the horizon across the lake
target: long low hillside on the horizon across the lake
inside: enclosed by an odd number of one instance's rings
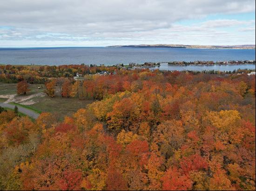
[[[209,48],[209,49],[255,49],[255,45],[114,45],[122,48]]]

